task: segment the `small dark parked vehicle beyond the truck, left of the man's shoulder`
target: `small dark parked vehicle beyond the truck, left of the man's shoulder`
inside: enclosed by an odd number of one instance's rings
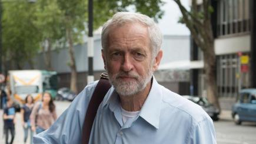
[[[60,88],[57,91],[56,100],[57,101],[73,101],[75,99],[75,92],[72,92],[69,88]]]

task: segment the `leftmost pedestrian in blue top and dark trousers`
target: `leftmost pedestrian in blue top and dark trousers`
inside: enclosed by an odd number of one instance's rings
[[[4,132],[5,132],[5,143],[8,144],[9,132],[11,133],[11,142],[14,142],[15,136],[15,108],[11,98],[7,99],[6,108],[4,108]]]

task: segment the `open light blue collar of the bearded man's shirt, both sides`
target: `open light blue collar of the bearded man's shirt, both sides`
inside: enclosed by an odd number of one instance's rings
[[[159,119],[160,119],[160,110],[161,110],[161,101],[162,93],[159,91],[159,84],[156,81],[155,77],[152,76],[152,86],[149,91],[148,97],[144,102],[144,105],[139,112],[139,116],[146,120],[149,124],[155,128],[159,128]],[[109,105],[109,109],[114,112],[116,108],[119,108],[119,96],[118,93],[114,90],[112,86],[109,93],[109,99],[104,103],[104,106]]]

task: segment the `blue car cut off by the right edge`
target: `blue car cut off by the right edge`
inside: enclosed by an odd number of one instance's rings
[[[232,118],[235,124],[256,122],[256,89],[242,89],[237,103],[232,106]]]

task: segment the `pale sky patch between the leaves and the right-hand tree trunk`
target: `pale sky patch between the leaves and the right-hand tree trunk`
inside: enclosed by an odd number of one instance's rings
[[[162,19],[158,20],[159,27],[163,35],[190,35],[188,28],[184,24],[179,24],[181,16],[178,5],[173,0],[164,0],[166,4],[162,6],[165,11]],[[181,0],[185,8],[189,8],[189,0]]]

